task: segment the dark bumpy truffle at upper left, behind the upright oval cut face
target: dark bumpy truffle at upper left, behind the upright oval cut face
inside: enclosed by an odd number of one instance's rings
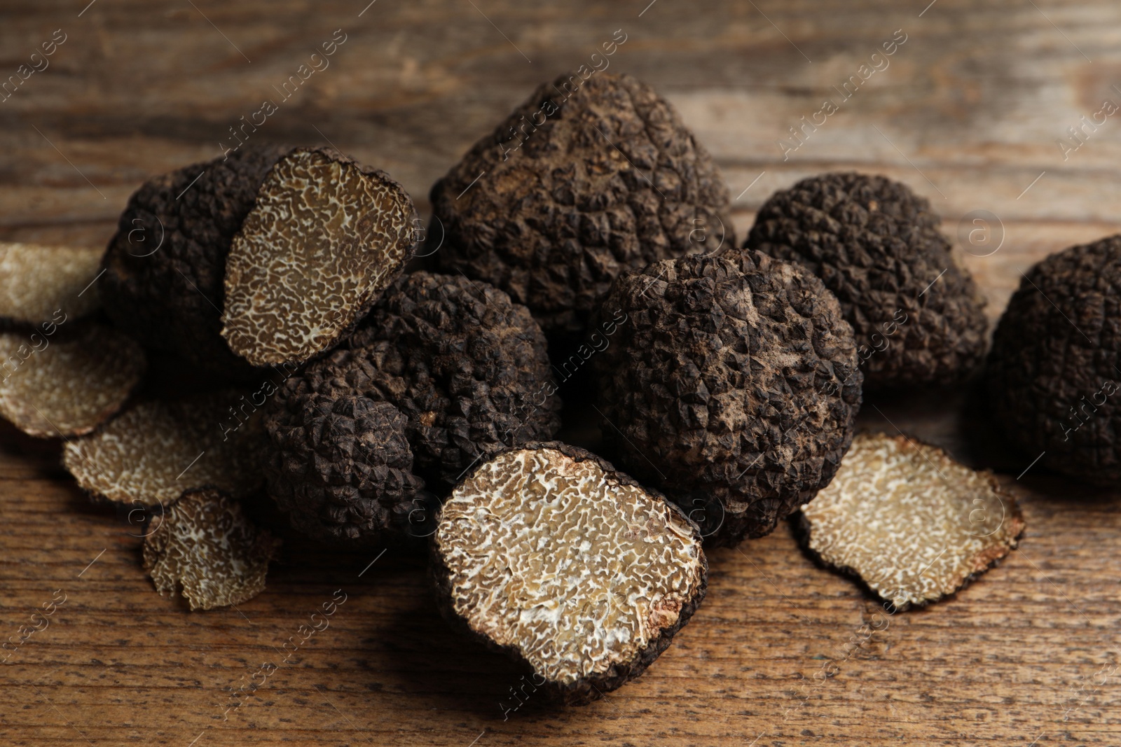
[[[288,150],[245,146],[149,179],[129,198],[99,281],[119,328],[212,374],[253,375],[220,334],[225,258],[258,187]]]

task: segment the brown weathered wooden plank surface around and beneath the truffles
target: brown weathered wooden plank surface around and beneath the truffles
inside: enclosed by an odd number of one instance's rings
[[[103,245],[143,179],[220,155],[340,28],[331,66],[253,137],[333,142],[421,209],[537,83],[622,29],[610,69],[678,108],[739,195],[741,235],[803,176],[883,172],[952,236],[973,211],[995,216],[989,243],[965,245],[995,318],[1031,263],[1119,230],[1121,115],[1066,160],[1057,144],[1121,103],[1114,0],[367,1],[3,0],[0,80],[56,29],[66,41],[0,102],[0,240]],[[890,67],[784,161],[787,128],[897,29]],[[876,600],[784,525],[712,553],[707,600],[641,680],[569,711],[530,698],[507,719],[518,674],[445,632],[416,558],[370,566],[289,541],[265,594],[191,614],[156,596],[137,527],[81,495],[55,445],[0,431],[0,637],[66,595],[0,665],[0,744],[1119,745],[1119,494],[1039,467],[1017,479],[1034,455],[1003,452],[980,413],[963,391],[862,414],[998,468],[1021,496],[1021,549],[955,598],[867,637]],[[229,691],[260,683],[336,589],[330,627],[224,719]]]

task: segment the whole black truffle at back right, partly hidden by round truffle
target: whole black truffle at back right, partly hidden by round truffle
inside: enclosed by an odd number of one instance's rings
[[[988,325],[938,223],[906,185],[824,174],[772,195],[745,246],[825,281],[856,336],[865,390],[941,385],[981,363]]]

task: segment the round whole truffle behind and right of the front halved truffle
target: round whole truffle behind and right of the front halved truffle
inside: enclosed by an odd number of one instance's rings
[[[600,317],[618,324],[592,360],[604,440],[710,542],[767,534],[832,479],[861,373],[807,270],[758,252],[664,260],[621,276]]]

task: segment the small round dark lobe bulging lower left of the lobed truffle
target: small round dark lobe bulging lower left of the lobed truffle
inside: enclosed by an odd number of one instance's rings
[[[424,480],[413,474],[408,419],[388,402],[297,394],[269,413],[269,494],[309,536],[377,543],[400,529]]]

